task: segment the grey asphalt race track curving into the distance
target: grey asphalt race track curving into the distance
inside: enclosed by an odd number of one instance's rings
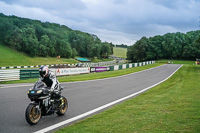
[[[43,117],[37,125],[31,126],[25,120],[25,110],[30,100],[27,90],[33,84],[0,85],[0,132],[30,133],[36,132],[56,123],[73,118],[130,94],[152,86],[175,72],[181,65],[162,65],[146,71],[85,82],[62,83],[69,102],[65,116]]]

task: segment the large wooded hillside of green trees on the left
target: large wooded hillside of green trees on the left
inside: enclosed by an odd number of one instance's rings
[[[67,26],[0,13],[0,42],[29,56],[108,57],[113,44]]]

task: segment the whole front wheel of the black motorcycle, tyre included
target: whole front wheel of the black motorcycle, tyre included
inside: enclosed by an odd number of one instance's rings
[[[30,125],[35,125],[39,122],[41,118],[41,109],[39,108],[38,105],[34,104],[29,104],[28,107],[26,108],[26,121]]]

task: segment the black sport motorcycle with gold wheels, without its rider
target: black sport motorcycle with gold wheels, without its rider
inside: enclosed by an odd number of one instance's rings
[[[61,94],[62,88],[57,92],[50,92],[42,81],[37,81],[33,88],[28,90],[31,103],[26,108],[25,116],[29,124],[35,125],[41,116],[57,114],[62,116],[68,109],[68,102],[64,96],[58,98],[56,93]]]

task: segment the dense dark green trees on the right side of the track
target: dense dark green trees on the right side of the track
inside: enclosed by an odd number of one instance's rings
[[[127,51],[131,61],[158,59],[195,60],[200,58],[200,31],[167,33],[163,36],[142,37]]]

